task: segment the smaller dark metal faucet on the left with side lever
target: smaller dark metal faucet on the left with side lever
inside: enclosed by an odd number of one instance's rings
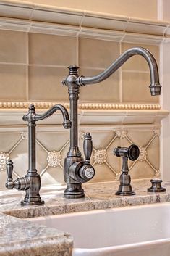
[[[23,120],[27,121],[28,126],[28,160],[29,160],[29,167],[27,170],[27,175],[22,178],[17,178],[17,180],[12,181],[12,171],[13,171],[13,163],[12,160],[7,162],[7,189],[18,189],[18,190],[25,190],[25,199],[21,202],[22,205],[42,205],[44,201],[41,200],[39,195],[39,191],[41,189],[41,178],[37,173],[35,168],[36,164],[36,154],[35,154],[35,127],[36,121],[43,120],[49,116],[51,116],[56,110],[60,110],[64,122],[64,128],[70,128],[71,122],[69,120],[69,114],[67,110],[62,105],[55,105],[51,107],[50,110],[47,110],[42,115],[36,115],[35,107],[33,104],[30,105],[29,111],[27,115],[23,116]]]

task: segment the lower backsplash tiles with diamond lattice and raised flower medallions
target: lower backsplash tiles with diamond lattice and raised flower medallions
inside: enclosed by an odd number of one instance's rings
[[[53,131],[37,131],[36,152],[37,170],[41,175],[42,185],[64,183],[64,157],[69,150],[69,131],[62,128]],[[90,128],[83,127],[79,131],[80,151],[85,132]],[[95,168],[95,177],[90,182],[114,181],[119,179],[122,169],[121,157],[115,157],[113,149],[116,146],[137,144],[140,148],[140,157],[135,162],[129,160],[129,170],[132,178],[152,178],[160,176],[159,170],[159,128],[129,128],[121,127],[100,128],[96,125],[90,131],[93,136],[93,154],[91,163]],[[0,174],[1,188],[7,180],[5,162],[10,157],[14,162],[14,177],[24,176],[27,173],[27,131],[0,133]],[[4,145],[4,146],[3,146]]]

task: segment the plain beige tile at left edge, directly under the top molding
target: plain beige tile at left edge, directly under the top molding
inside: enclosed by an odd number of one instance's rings
[[[26,33],[0,30],[0,62],[26,63]]]

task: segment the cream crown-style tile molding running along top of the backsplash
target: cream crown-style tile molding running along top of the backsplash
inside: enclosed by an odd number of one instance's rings
[[[169,40],[170,22],[145,20],[101,12],[33,4],[25,1],[0,1],[0,29],[65,36],[103,38],[110,41]]]

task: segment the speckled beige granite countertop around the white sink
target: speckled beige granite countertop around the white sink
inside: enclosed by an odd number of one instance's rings
[[[149,180],[132,181],[135,196],[120,197],[115,192],[118,182],[85,183],[86,197],[64,199],[64,186],[46,186],[41,189],[45,205],[21,206],[25,192],[0,191],[0,256],[71,256],[73,239],[70,234],[54,228],[38,226],[22,220],[66,212],[99,210],[130,205],[170,202],[170,183],[163,183],[164,193],[148,193]]]

